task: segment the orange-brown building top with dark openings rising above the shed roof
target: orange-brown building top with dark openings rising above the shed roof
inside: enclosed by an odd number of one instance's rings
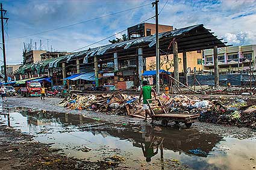
[[[170,25],[158,25],[158,32],[172,31],[173,26]],[[155,24],[154,23],[140,23],[138,25],[131,26],[127,28],[128,40],[140,37],[146,37],[155,34]]]

